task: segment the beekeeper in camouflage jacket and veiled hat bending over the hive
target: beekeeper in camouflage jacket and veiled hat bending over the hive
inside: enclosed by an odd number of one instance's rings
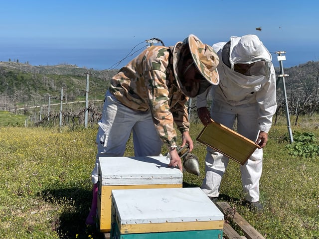
[[[219,82],[218,56],[213,48],[189,35],[174,46],[151,46],[123,67],[111,80],[96,138],[98,153],[92,172],[93,201],[86,223],[94,223],[100,156],[123,156],[133,133],[135,156],[159,156],[162,143],[170,155],[168,166],[182,162],[176,151],[177,134],[182,144],[189,135],[188,97],[196,97]]]

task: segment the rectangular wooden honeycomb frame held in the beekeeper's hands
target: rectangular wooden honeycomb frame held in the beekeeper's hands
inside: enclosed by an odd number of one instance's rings
[[[212,120],[197,136],[197,141],[244,165],[259,146],[223,124]]]

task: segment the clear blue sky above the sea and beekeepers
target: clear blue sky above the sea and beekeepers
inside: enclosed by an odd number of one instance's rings
[[[256,34],[269,51],[285,50],[287,62],[300,64],[319,60],[318,9],[315,0],[2,1],[0,61],[7,61],[1,48],[51,47],[119,49],[118,57],[105,56],[116,63],[152,37],[168,46],[195,34],[212,45]]]

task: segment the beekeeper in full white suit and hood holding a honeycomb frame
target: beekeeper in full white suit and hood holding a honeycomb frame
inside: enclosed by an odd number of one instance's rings
[[[197,97],[198,117],[204,125],[209,123],[211,117],[229,128],[233,128],[237,119],[238,133],[259,145],[240,170],[244,204],[254,211],[261,211],[259,180],[262,174],[262,148],[267,144],[268,131],[277,108],[272,57],[256,35],[232,36],[230,41],[216,43],[213,48],[220,59],[217,66],[220,83],[211,90],[213,100],[210,113],[206,108],[208,92]],[[207,147],[205,160],[206,176],[202,190],[216,202],[229,159]]]

